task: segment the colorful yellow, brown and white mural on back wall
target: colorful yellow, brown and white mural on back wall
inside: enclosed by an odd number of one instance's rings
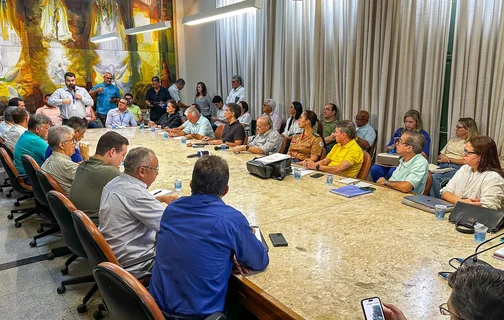
[[[162,7],[161,7],[162,4]],[[143,106],[150,79],[176,77],[173,28],[126,36],[125,29],[172,21],[171,0],[0,0],[0,101],[22,97],[30,111],[64,86],[67,71],[90,89],[110,72]],[[117,40],[91,43],[117,32]]]

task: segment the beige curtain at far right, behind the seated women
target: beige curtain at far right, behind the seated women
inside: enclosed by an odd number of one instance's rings
[[[502,0],[457,1],[448,115],[449,128],[472,117],[498,145],[504,144],[503,13]]]

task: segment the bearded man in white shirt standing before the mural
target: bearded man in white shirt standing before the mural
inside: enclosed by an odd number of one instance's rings
[[[73,116],[86,118],[86,106],[92,107],[94,101],[85,88],[75,85],[75,74],[67,72],[65,86],[56,90],[47,103],[60,108],[63,124],[66,124]]]

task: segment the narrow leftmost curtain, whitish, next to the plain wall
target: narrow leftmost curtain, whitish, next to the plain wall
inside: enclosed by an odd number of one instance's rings
[[[240,2],[217,0],[217,7]],[[246,90],[245,101],[253,118],[261,115],[265,98],[272,96],[275,3],[263,0],[260,10],[228,17],[217,26],[217,92],[226,100],[231,78],[238,74]]]

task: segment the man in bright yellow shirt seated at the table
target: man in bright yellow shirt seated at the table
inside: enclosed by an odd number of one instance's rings
[[[336,144],[325,159],[314,162],[311,159],[303,161],[309,169],[316,169],[342,176],[355,178],[359,174],[364,162],[361,147],[355,141],[355,125],[352,121],[343,120],[334,130]]]

